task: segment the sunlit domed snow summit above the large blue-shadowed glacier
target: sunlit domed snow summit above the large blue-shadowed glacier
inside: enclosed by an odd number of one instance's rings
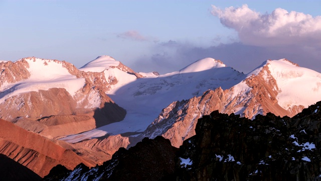
[[[190,72],[199,72],[208,70],[211,68],[219,68],[225,67],[226,65],[223,64],[220,60],[215,60],[213,58],[204,58],[197,60],[194,63],[189,64],[188,66],[182,68],[180,73],[190,73]]]

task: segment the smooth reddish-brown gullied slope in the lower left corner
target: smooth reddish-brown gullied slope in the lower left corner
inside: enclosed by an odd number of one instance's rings
[[[79,163],[93,166],[72,150],[65,149],[43,136],[0,119],[0,153],[45,176],[57,164],[73,169]]]

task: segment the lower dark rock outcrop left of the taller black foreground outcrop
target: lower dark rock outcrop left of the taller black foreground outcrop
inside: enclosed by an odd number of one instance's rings
[[[120,148],[100,166],[79,164],[72,171],[58,165],[44,180],[166,180],[173,178],[176,151],[163,137],[145,138],[128,150]]]

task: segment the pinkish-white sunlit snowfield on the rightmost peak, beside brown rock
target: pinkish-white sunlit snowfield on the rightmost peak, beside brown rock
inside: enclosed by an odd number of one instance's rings
[[[278,87],[277,101],[285,110],[302,105],[307,108],[321,100],[321,74],[284,59],[268,60],[268,69]]]

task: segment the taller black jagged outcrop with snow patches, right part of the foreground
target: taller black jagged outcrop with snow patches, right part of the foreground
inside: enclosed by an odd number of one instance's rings
[[[321,102],[293,118],[271,113],[254,120],[218,111],[199,119],[184,141],[183,180],[321,179]]]

